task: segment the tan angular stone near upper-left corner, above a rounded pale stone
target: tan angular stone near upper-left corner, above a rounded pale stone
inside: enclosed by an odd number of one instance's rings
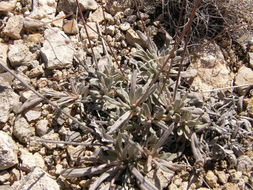
[[[11,16],[4,27],[3,34],[14,39],[20,39],[20,32],[24,25],[24,18],[21,15]]]

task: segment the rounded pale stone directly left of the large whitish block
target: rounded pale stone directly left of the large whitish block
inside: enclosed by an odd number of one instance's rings
[[[35,57],[24,44],[10,45],[8,59],[13,67],[28,65]]]

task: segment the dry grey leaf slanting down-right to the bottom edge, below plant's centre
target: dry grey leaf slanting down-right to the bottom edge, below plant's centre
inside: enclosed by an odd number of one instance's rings
[[[145,177],[134,167],[129,166],[131,173],[136,177],[138,180],[138,185],[143,190],[159,190],[154,184],[150,183]]]

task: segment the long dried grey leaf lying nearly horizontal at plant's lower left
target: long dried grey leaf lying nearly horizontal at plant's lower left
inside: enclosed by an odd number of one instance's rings
[[[87,168],[69,168],[63,170],[61,175],[67,179],[83,176],[93,176],[103,172],[106,172],[109,168],[117,165],[118,163],[112,162],[109,164],[102,164],[97,167],[87,167]]]

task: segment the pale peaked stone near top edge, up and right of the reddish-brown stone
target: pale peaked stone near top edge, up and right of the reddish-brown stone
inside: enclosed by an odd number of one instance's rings
[[[113,17],[109,13],[105,12],[103,13],[102,7],[99,7],[95,12],[91,13],[89,16],[89,21],[91,22],[97,22],[102,23],[106,19],[109,21],[109,23],[113,23]]]

